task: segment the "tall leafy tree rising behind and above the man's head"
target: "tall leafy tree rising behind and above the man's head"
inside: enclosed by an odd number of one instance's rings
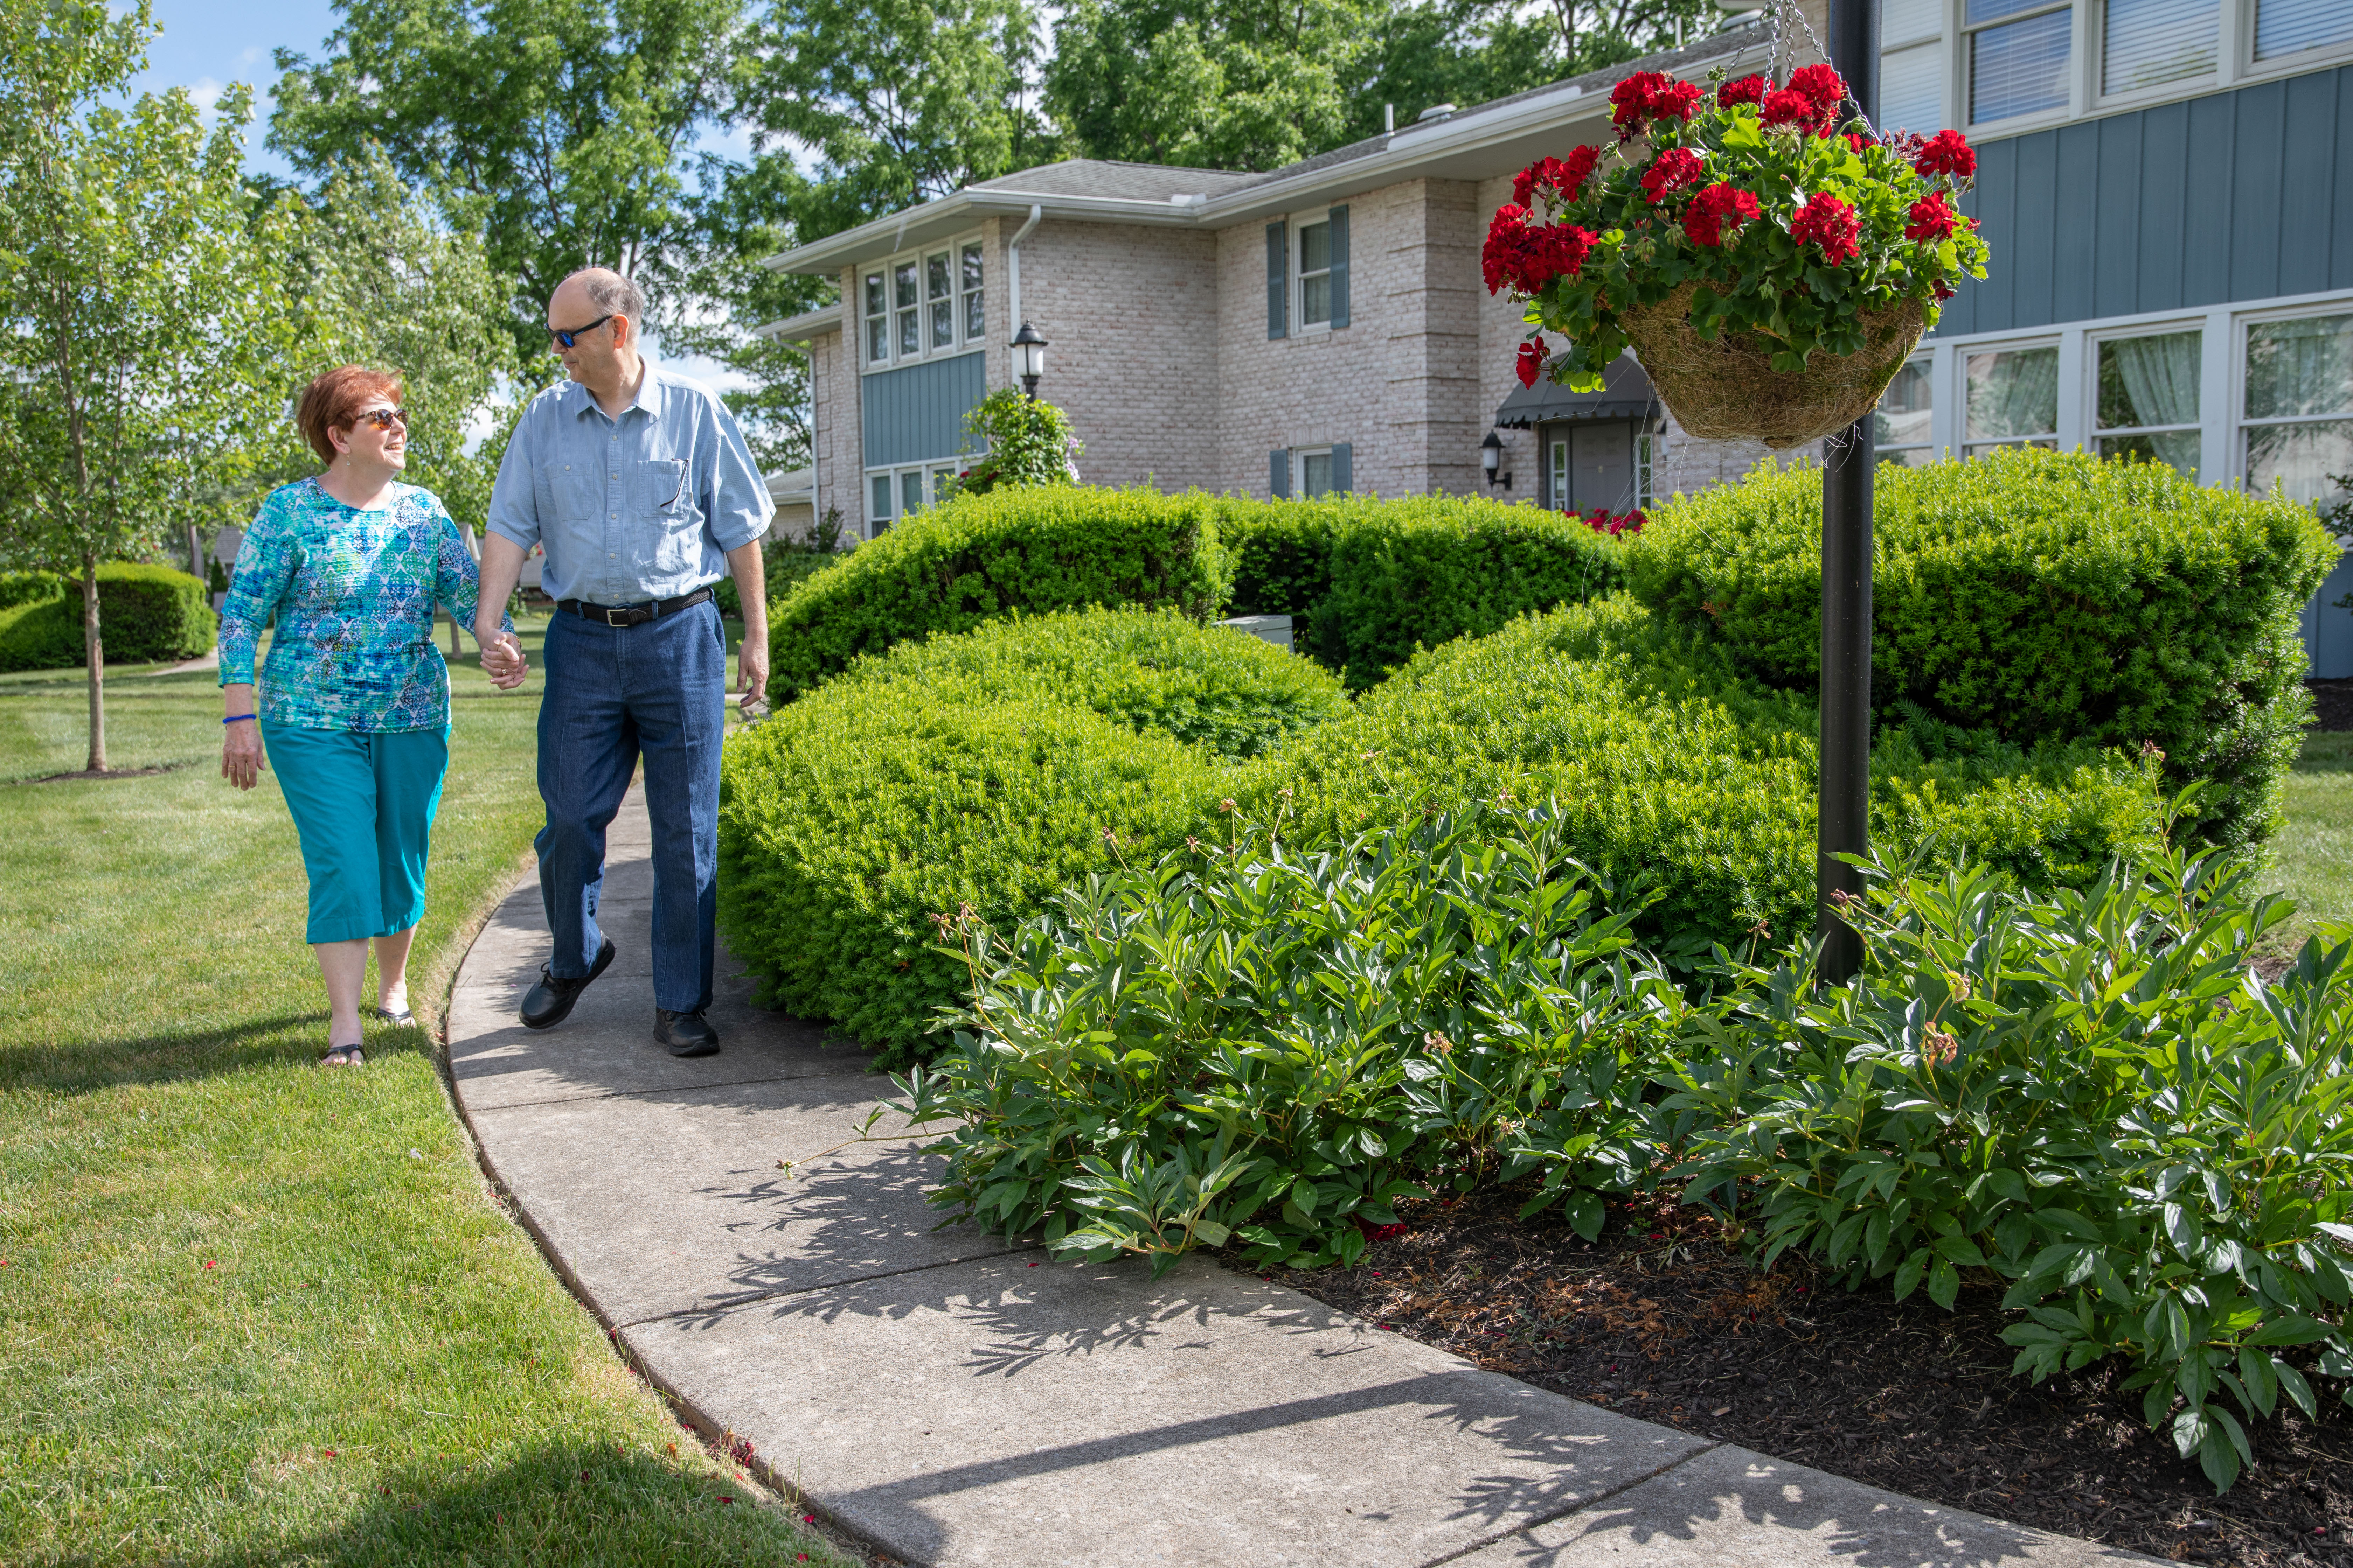
[[[513,282],[518,350],[584,266],[640,287],[692,242],[696,136],[734,94],[744,0],[336,0],[327,54],[278,52],[271,146],[313,179],[391,160]]]

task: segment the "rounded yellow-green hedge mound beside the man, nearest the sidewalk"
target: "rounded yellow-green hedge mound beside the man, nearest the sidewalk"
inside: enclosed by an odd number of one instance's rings
[[[1344,712],[1315,665],[1176,614],[901,644],[727,743],[720,924],[774,1001],[899,1060],[965,985],[934,914],[1012,919],[1158,853]]]

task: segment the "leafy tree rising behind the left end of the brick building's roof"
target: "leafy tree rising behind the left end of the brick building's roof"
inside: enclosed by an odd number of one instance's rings
[[[816,155],[800,240],[1059,155],[1031,0],[774,0],[744,59],[762,146]]]

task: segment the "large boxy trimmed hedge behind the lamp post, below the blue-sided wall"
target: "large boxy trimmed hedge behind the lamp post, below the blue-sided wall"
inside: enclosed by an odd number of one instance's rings
[[[2002,449],[1882,465],[1871,693],[2007,741],[2165,752],[2193,830],[2278,818],[2308,717],[2297,614],[2334,564],[2308,508],[2155,463]],[[1626,550],[1652,611],[1772,686],[1821,670],[1821,470],[1767,465],[1659,508]]]

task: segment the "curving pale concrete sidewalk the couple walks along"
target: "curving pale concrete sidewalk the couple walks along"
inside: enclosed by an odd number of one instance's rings
[[[567,1023],[515,1006],[536,884],[459,969],[449,1065],[496,1180],[661,1387],[908,1563],[2146,1563],[1548,1394],[1193,1258],[1085,1267],[934,1229],[922,1140],[856,1143],[864,1053],[751,1006],[652,1044],[642,799],[619,957]],[[791,1180],[779,1159],[809,1161]]]

